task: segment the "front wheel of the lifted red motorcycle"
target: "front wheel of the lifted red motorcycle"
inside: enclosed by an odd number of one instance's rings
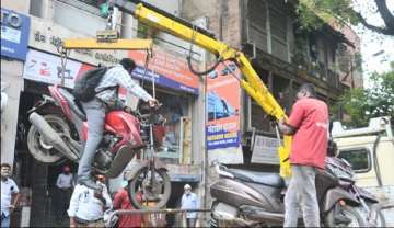
[[[138,209],[163,208],[171,195],[170,176],[164,169],[143,167],[129,181],[128,194],[131,204]]]

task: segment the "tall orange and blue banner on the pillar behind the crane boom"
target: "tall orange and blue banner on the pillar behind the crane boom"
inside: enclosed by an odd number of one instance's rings
[[[235,64],[227,61],[207,77],[207,149],[240,147],[241,88]],[[233,75],[231,73],[233,71]]]

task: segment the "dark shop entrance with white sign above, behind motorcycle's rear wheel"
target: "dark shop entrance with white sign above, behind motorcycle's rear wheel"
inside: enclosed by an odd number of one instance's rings
[[[92,65],[69,59],[65,69],[65,87],[72,88],[73,81],[85,70],[93,68]],[[31,151],[27,147],[27,134],[31,127],[27,111],[48,94],[49,84],[58,84],[61,81],[61,59],[59,56],[37,49],[28,49],[23,69],[24,91],[21,94],[19,110],[19,136],[18,155],[21,186],[26,190],[28,202],[25,207],[28,214],[24,215],[27,225],[40,227],[55,224],[56,206],[59,202],[59,190],[56,181],[63,166],[69,166],[76,173],[78,164],[67,160],[55,163],[43,163],[34,158],[37,150]]]

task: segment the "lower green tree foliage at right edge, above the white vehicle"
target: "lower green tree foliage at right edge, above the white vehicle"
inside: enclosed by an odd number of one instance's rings
[[[394,62],[392,69],[384,73],[372,73],[372,87],[351,89],[340,96],[333,109],[341,109],[351,118],[350,125],[366,126],[372,117],[391,116],[394,118]]]

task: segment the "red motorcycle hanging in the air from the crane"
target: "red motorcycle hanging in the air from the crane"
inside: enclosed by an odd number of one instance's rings
[[[32,123],[27,134],[30,152],[44,163],[63,159],[79,162],[88,137],[86,116],[66,88],[49,86],[48,89],[50,96],[43,95],[43,100],[28,111]],[[165,119],[149,105],[139,107],[144,114],[141,111],[135,115],[124,111],[106,114],[103,139],[92,168],[107,178],[116,178],[138,153],[138,164],[126,176],[131,203],[137,208],[144,208],[154,202],[154,207],[161,208],[170,198],[171,181],[164,163],[155,157],[160,134],[154,133],[160,132],[157,129]],[[140,151],[143,151],[142,159]],[[137,197],[138,191],[142,191],[142,202]]]

